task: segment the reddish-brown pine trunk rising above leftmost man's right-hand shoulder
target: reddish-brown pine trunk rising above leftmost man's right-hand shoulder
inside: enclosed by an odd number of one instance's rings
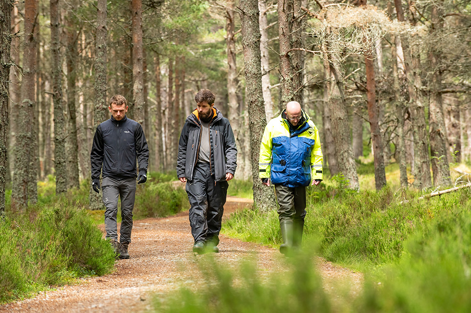
[[[144,82],[143,56],[142,56],[142,2],[131,1],[132,14],[132,97],[133,119],[139,124],[144,124]]]

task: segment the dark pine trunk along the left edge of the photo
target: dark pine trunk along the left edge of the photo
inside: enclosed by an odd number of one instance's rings
[[[5,212],[6,162],[8,158],[8,81],[10,78],[11,1],[0,3],[0,218]]]

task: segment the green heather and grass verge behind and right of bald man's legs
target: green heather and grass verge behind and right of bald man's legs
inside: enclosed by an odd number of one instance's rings
[[[418,227],[444,210],[468,203],[470,193],[464,190],[400,204],[389,187],[380,192],[342,193],[321,184],[317,189],[308,188],[305,235],[318,241],[319,252],[329,261],[360,266],[392,263],[402,255],[404,240]],[[235,212],[222,231],[246,241],[281,243],[274,210],[266,214],[257,209]]]

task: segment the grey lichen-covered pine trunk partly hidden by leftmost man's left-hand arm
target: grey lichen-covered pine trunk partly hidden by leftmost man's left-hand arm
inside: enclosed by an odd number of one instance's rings
[[[95,107],[93,108],[93,134],[98,125],[105,121],[106,110],[106,0],[98,0],[97,3],[97,39],[95,43]],[[99,193],[95,193],[90,184],[90,210],[103,209],[103,203]]]

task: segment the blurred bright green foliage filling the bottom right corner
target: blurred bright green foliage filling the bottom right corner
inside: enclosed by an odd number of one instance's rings
[[[470,193],[468,193],[469,196]],[[461,195],[454,195],[459,201]],[[471,212],[445,208],[405,243],[404,256],[384,276],[370,278],[358,312],[470,312]]]

